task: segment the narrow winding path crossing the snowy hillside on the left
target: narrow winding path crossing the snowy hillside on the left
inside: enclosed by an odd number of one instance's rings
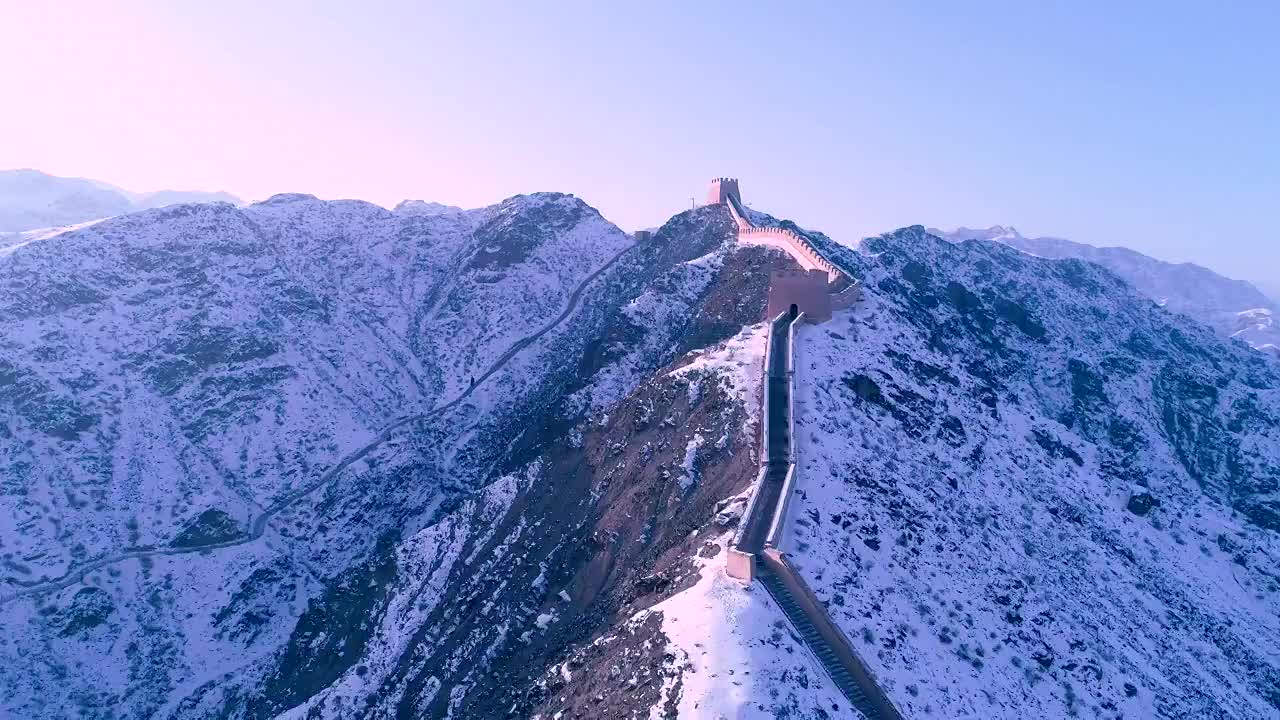
[[[550,320],[549,323],[547,323],[545,325],[543,325],[541,328],[539,328],[538,331],[535,331],[532,334],[527,334],[527,336],[520,338],[518,341],[516,341],[509,348],[507,348],[506,352],[503,352],[497,360],[494,360],[494,363],[492,365],[489,365],[489,369],[485,370],[483,375],[480,375],[479,378],[476,378],[475,384],[467,387],[467,389],[465,389],[462,393],[460,393],[453,400],[445,402],[444,405],[438,405],[438,406],[435,406],[435,407],[433,407],[433,409],[430,409],[430,410],[428,410],[425,413],[419,413],[419,414],[415,414],[415,415],[406,415],[403,418],[397,419],[392,424],[387,425],[385,428],[383,428],[383,430],[380,433],[378,433],[378,437],[375,437],[369,445],[361,447],[360,450],[356,450],[355,452],[351,452],[349,455],[347,455],[346,457],[343,457],[342,460],[339,460],[337,465],[334,465],[333,468],[330,468],[329,470],[326,470],[324,474],[321,474],[314,482],[303,486],[300,489],[296,489],[296,491],[293,491],[291,493],[284,495],[283,497],[280,497],[279,500],[276,500],[274,503],[271,503],[266,510],[264,510],[257,518],[253,519],[253,523],[250,527],[250,533],[247,536],[242,536],[242,537],[238,537],[236,539],[230,539],[230,541],[225,541],[225,542],[215,542],[215,543],[189,546],[189,547],[138,547],[138,548],[133,548],[133,550],[127,550],[127,551],[120,552],[118,555],[111,555],[111,556],[106,556],[106,557],[100,557],[97,560],[91,560],[91,561],[84,562],[84,564],[82,564],[79,566],[72,568],[70,570],[67,571],[65,575],[63,575],[61,578],[59,578],[56,580],[37,580],[37,582],[33,582],[31,584],[24,584],[20,580],[9,580],[12,584],[22,585],[22,589],[19,589],[17,592],[13,592],[13,593],[9,593],[9,594],[5,594],[5,596],[0,596],[0,607],[8,605],[8,603],[10,603],[10,602],[13,602],[13,601],[15,601],[15,600],[18,600],[20,597],[38,596],[38,594],[45,594],[45,593],[56,592],[56,591],[68,588],[70,585],[74,585],[76,583],[79,583],[81,580],[84,579],[84,575],[87,575],[87,574],[90,574],[90,573],[92,573],[95,570],[101,570],[102,568],[106,568],[109,565],[114,565],[116,562],[123,562],[125,560],[137,560],[137,559],[142,559],[142,557],[156,557],[156,556],[161,556],[161,555],[189,555],[192,552],[207,552],[207,551],[211,551],[211,550],[223,550],[223,548],[228,548],[228,547],[238,547],[238,546],[248,544],[251,542],[256,542],[256,541],[261,539],[261,537],[266,533],[266,525],[268,525],[268,523],[271,521],[271,518],[279,515],[284,510],[287,510],[291,506],[293,506],[293,503],[296,503],[297,501],[307,497],[308,495],[314,493],[315,491],[317,491],[317,489],[320,489],[320,488],[323,488],[323,487],[333,483],[333,480],[337,479],[338,475],[342,474],[343,470],[346,470],[347,468],[349,468],[352,464],[358,462],[366,455],[369,455],[370,452],[372,452],[374,450],[376,450],[379,446],[381,446],[383,443],[385,443],[392,437],[392,433],[394,433],[399,428],[403,428],[404,425],[408,425],[411,423],[419,423],[419,421],[426,420],[429,418],[434,418],[434,416],[436,416],[436,415],[439,415],[439,414],[442,414],[442,413],[444,413],[447,410],[451,410],[452,407],[457,406],[460,402],[462,402],[463,400],[466,400],[467,397],[470,397],[471,393],[475,392],[476,388],[479,388],[481,383],[484,383],[490,377],[493,377],[493,374],[497,373],[498,370],[500,370],[508,361],[511,361],[512,357],[515,357],[516,355],[520,355],[520,352],[522,350],[525,350],[526,347],[529,347],[534,342],[538,342],[543,336],[545,336],[547,333],[552,332],[557,327],[559,327],[561,323],[563,323],[566,319],[568,319],[568,316],[573,314],[573,310],[577,309],[577,305],[581,301],[582,295],[586,292],[586,288],[590,287],[590,284],[593,282],[595,282],[596,278],[599,278],[602,274],[604,274],[618,260],[621,260],[623,255],[626,255],[627,252],[630,252],[635,247],[636,247],[635,243],[623,247],[613,258],[609,258],[609,260],[607,263],[604,263],[603,265],[600,265],[599,268],[596,268],[591,274],[586,275],[586,278],[584,278],[582,282],[579,283],[576,288],[573,288],[573,292],[570,293],[570,296],[568,296],[568,304],[564,306],[564,310],[561,311],[561,314],[556,316],[556,319]]]

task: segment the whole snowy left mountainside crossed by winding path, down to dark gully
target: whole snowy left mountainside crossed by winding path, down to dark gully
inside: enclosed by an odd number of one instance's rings
[[[557,377],[548,354],[595,332],[594,295],[449,418],[402,419],[463,393],[630,246],[557,193],[442,217],[276,196],[0,256],[0,662],[44,659],[3,674],[8,710],[106,708],[128,689],[151,714],[271,656],[293,625],[269,619],[488,482],[499,425]]]

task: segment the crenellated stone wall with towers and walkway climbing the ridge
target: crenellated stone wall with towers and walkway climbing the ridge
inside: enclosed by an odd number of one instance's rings
[[[870,720],[900,720],[901,714],[876,684],[852,643],[831,620],[822,601],[788,562],[782,548],[787,509],[796,492],[795,333],[804,323],[829,320],[851,307],[861,287],[828,260],[804,234],[790,228],[756,225],[742,206],[735,178],[712,181],[707,202],[724,204],[737,223],[737,240],[777,247],[801,270],[769,274],[769,333],[764,354],[760,409],[760,468],[726,560],[730,577],[760,580],[850,703]]]

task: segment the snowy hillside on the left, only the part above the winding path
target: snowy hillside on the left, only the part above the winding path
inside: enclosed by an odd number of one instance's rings
[[[518,265],[467,270],[530,205],[545,225],[525,228]],[[209,507],[243,527],[312,468],[456,396],[628,242],[563,196],[421,223],[278,196],[129,215],[6,256],[0,366],[24,442],[5,461],[41,469],[5,515],[17,555],[40,559],[18,564],[58,575],[169,542]],[[99,525],[141,501],[163,514]],[[60,533],[86,537],[72,552]]]

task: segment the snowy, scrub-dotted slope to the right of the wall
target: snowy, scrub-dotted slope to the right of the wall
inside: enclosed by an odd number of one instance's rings
[[[1275,717],[1280,373],[909,228],[796,345],[788,551],[909,716]]]

